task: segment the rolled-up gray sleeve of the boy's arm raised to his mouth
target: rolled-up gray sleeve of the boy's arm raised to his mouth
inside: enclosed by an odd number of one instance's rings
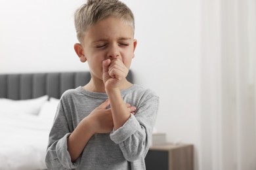
[[[135,161],[146,156],[156,122],[158,105],[159,97],[156,95],[144,99],[137,108],[136,114],[131,114],[122,127],[110,133],[110,139],[119,144],[127,161]]]

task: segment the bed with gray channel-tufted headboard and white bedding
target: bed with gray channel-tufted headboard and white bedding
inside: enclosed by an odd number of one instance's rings
[[[0,75],[0,169],[47,169],[45,151],[58,101],[89,71]],[[133,82],[131,71],[127,79]]]

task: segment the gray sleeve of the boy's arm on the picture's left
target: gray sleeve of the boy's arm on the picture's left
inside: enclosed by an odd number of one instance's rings
[[[68,152],[68,136],[72,126],[64,114],[62,102],[58,105],[53,127],[49,134],[49,143],[45,163],[48,169],[74,169],[79,166],[80,157],[73,163]]]

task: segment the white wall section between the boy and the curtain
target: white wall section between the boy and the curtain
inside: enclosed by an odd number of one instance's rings
[[[128,2],[128,1],[127,1]],[[160,95],[156,122],[168,141],[200,146],[200,1],[137,1],[136,82]]]

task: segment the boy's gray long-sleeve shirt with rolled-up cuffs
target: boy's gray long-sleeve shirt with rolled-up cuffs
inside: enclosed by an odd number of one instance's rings
[[[148,152],[158,111],[159,97],[151,90],[133,85],[121,90],[125,103],[137,107],[135,115],[111,133],[91,137],[82,154],[72,163],[68,136],[85,116],[106,101],[106,93],[88,92],[81,86],[67,90],[60,99],[49,134],[45,162],[49,169],[146,169]]]

